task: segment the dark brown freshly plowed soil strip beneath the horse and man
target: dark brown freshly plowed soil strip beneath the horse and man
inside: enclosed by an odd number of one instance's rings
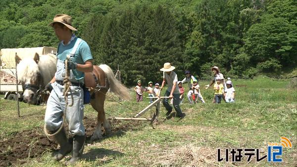
[[[124,122],[124,125],[117,126],[121,121],[112,121],[112,133],[110,135],[123,134],[123,131],[135,128],[140,122]],[[87,142],[91,138],[96,129],[96,119],[84,118],[84,125],[86,127]],[[108,137],[108,136],[105,136]],[[11,165],[21,165],[31,158],[42,157],[45,152],[52,152],[58,149],[58,145],[53,138],[48,138],[44,132],[43,127],[32,130],[21,131],[10,135],[7,138],[0,138],[0,167]]]

